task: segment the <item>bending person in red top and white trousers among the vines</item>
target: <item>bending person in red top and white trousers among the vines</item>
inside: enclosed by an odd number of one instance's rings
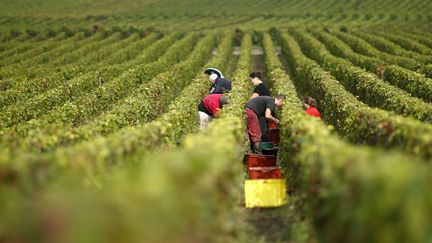
[[[228,103],[228,97],[224,94],[207,95],[198,105],[198,115],[200,118],[200,129],[208,127],[209,122],[217,116],[223,105]]]

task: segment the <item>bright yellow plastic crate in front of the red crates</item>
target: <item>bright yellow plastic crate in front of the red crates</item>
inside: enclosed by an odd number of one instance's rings
[[[246,208],[279,207],[287,202],[285,179],[245,180]]]

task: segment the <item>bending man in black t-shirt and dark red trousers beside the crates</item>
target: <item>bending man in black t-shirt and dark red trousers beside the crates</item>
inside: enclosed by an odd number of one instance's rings
[[[262,141],[262,131],[259,126],[260,117],[265,117],[266,119],[272,120],[279,124],[279,120],[276,119],[272,113],[274,113],[276,107],[283,105],[284,100],[285,96],[279,94],[274,98],[270,96],[258,96],[246,103],[245,114],[247,120],[247,129],[249,138],[251,140],[251,148],[255,153],[260,153],[261,151],[259,146],[260,142]]]

